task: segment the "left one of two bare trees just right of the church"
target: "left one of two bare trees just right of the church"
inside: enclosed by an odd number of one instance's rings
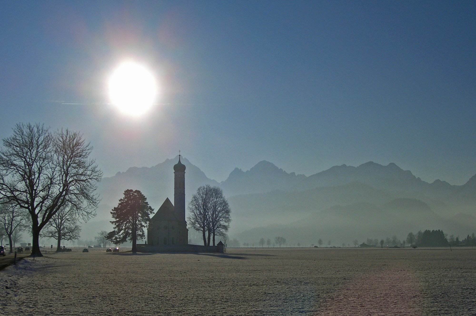
[[[192,195],[192,200],[188,203],[188,224],[194,230],[202,232],[203,245],[207,246],[207,237],[205,233],[208,228],[208,213],[210,208],[210,189],[207,184],[197,189],[197,192]]]

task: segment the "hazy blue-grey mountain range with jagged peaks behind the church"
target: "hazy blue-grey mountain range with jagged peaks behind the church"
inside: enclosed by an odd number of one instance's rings
[[[155,210],[165,198],[173,200],[177,161],[175,157],[152,167],[131,167],[104,178],[98,188],[98,216],[83,225],[83,232],[110,227],[109,212],[126,189],[142,191]],[[217,182],[186,158],[182,163],[187,166],[187,200],[201,185],[220,186],[232,209],[230,235],[242,242],[283,234],[304,242],[318,235],[347,240],[420,229],[463,235],[476,229],[476,175],[458,186],[425,182],[395,163],[344,164],[305,176],[261,161],[248,171],[236,168]]]

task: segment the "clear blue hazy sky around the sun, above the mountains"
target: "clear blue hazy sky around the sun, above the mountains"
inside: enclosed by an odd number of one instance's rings
[[[0,137],[79,130],[108,176],[180,149],[218,181],[260,160],[306,175],[374,161],[463,184],[475,52],[475,1],[2,1]],[[160,84],[140,118],[107,105],[129,58]]]

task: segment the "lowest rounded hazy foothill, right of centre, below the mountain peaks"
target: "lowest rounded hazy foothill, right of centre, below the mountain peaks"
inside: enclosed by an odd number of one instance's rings
[[[372,203],[336,205],[301,220],[252,228],[237,234],[241,242],[256,242],[260,238],[284,236],[288,244],[317,244],[321,238],[327,244],[349,243],[357,239],[381,239],[396,235],[404,239],[410,231],[443,229],[452,231],[463,227],[436,215],[418,200],[395,199],[381,206]]]

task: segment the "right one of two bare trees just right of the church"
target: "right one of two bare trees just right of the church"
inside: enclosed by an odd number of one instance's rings
[[[210,234],[213,238],[213,246],[215,246],[215,236],[218,232],[228,231],[230,227],[230,206],[227,199],[223,195],[223,190],[218,187],[211,187],[208,212],[208,246],[210,245]]]

